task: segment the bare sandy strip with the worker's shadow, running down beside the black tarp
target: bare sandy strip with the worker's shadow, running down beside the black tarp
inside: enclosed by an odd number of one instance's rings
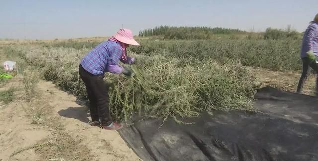
[[[139,161],[134,152],[120,137],[117,131],[104,130],[87,124],[87,108],[78,105],[73,95],[69,95],[50,82],[40,82],[39,90],[54,107],[53,114],[60,117],[65,125],[65,132],[80,140],[83,149],[91,150],[91,155],[99,161]]]

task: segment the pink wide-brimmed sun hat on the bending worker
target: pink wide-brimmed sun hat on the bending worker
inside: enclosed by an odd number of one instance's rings
[[[134,40],[133,32],[126,28],[119,29],[114,38],[125,44],[139,46],[138,42]]]

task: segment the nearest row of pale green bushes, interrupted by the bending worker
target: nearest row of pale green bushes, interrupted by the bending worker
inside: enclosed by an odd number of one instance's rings
[[[79,78],[80,59],[90,50],[64,47],[13,46],[30,65],[41,67],[44,77],[74,95],[85,97]],[[202,111],[253,111],[254,78],[237,62],[177,58],[174,53],[129,53],[139,60],[135,75],[107,74],[112,115],[129,120],[144,117],[197,116]],[[208,75],[207,75],[208,74]]]

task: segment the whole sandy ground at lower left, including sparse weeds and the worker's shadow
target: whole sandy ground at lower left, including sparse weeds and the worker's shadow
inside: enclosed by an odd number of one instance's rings
[[[26,101],[23,77],[14,86],[14,100],[0,106],[0,161],[140,161],[116,131],[86,124],[86,107],[50,82],[35,85]]]

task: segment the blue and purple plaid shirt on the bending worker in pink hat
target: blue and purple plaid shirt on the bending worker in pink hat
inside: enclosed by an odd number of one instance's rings
[[[134,58],[122,57],[125,50],[115,41],[104,41],[91,50],[80,62],[83,68],[93,75],[105,72],[120,74],[123,68],[118,65],[119,60],[125,64],[132,64]]]

